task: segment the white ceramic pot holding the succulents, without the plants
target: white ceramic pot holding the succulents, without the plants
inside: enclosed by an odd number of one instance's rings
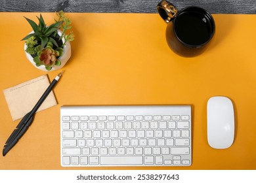
[[[33,31],[31,33],[33,33]],[[58,30],[58,35],[61,36],[62,31]],[[64,37],[62,38],[62,42],[65,42]],[[24,44],[24,50],[26,50],[26,48],[27,48],[27,45]],[[35,68],[40,69],[41,71],[47,71],[47,69],[45,69],[45,65],[40,65],[39,67],[37,67],[35,65],[35,62],[33,61],[32,56],[30,54],[28,54],[27,52],[25,52],[25,54],[26,54],[26,57],[28,58],[28,60],[32,63],[32,65],[35,66]],[[70,56],[71,56],[71,45],[70,45],[70,41],[67,41],[63,48],[63,55],[58,58],[58,60],[60,60],[60,62],[61,62],[60,66],[53,65],[51,71],[55,71],[55,70],[58,70],[58,69],[61,69],[62,67],[64,67],[64,65],[67,63],[68,59],[70,59]],[[49,71],[47,71],[47,72],[49,72]]]

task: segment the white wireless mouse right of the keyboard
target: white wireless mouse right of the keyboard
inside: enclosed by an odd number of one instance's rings
[[[228,148],[234,141],[234,107],[227,97],[211,97],[207,102],[207,139],[217,149]]]

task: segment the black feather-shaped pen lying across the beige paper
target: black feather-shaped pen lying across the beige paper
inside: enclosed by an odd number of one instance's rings
[[[45,101],[49,93],[53,90],[54,85],[56,84],[56,82],[58,82],[58,79],[60,78],[61,75],[62,75],[62,72],[59,73],[54,78],[53,82],[51,82],[47,90],[45,90],[45,93],[43,93],[39,101],[35,104],[35,107],[33,107],[33,109],[22,118],[20,123],[17,125],[16,129],[14,129],[9,139],[7,139],[7,142],[5,142],[5,146],[3,147],[3,156],[5,156],[7,152],[11,150],[11,148],[18,142],[18,140],[22,137],[22,135],[24,135],[24,133],[27,131],[28,127],[30,127],[30,125],[33,122],[33,116],[35,115],[35,112],[37,112],[37,109],[41,106],[41,104],[43,103],[43,101]]]

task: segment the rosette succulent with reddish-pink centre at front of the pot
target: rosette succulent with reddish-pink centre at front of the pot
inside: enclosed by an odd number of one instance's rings
[[[61,62],[58,57],[62,56],[63,48],[53,49],[53,43],[47,42],[47,45],[43,50],[41,50],[41,45],[35,48],[37,50],[37,56],[33,58],[35,65],[39,67],[40,65],[45,65],[47,71],[51,71],[54,65],[60,66]]]

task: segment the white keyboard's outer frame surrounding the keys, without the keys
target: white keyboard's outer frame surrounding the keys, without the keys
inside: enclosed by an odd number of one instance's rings
[[[166,115],[179,115],[179,116],[187,116],[189,115],[189,119],[186,120],[189,122],[189,137],[187,137],[187,139],[189,139],[189,154],[187,155],[182,155],[182,159],[188,159],[189,162],[186,164],[178,164],[175,165],[173,161],[174,158],[176,159],[178,156],[179,159],[179,155],[169,155],[170,158],[172,160],[171,165],[165,165],[160,164],[160,165],[89,165],[89,163],[87,165],[72,165],[70,163],[70,165],[64,165],[62,162],[62,158],[63,158],[63,145],[62,145],[62,141],[64,140],[62,137],[62,131],[64,131],[62,129],[62,116],[70,116],[70,122],[71,122],[71,118],[72,116],[134,116],[134,118],[136,118],[136,116],[152,116],[152,114],[154,114],[154,116],[166,116]],[[191,125],[191,106],[190,105],[127,105],[127,106],[62,106],[60,107],[60,162],[62,167],[118,167],[118,166],[124,166],[124,167],[128,167],[128,166],[190,166],[192,164],[192,125]],[[153,119],[154,120],[154,119]],[[125,120],[127,121],[127,120]],[[178,121],[178,120],[177,120]],[[175,122],[177,122],[175,121]],[[88,120],[87,122],[90,122],[90,120]],[[154,137],[156,138],[156,137]],[[93,138],[91,138],[93,139]],[[111,137],[109,139],[112,139]],[[81,147],[82,148],[82,147]],[[171,150],[170,150],[171,151]],[[170,152],[171,153],[171,152]],[[83,155],[81,155],[83,156]],[[110,156],[110,155],[108,155]],[[152,155],[152,156],[156,156],[156,155]],[[167,155],[165,155],[167,156]],[[98,157],[100,157],[100,155],[98,155]],[[103,156],[102,156],[103,157]],[[112,159],[115,159],[114,157],[112,157]],[[70,159],[71,161],[71,159]],[[80,161],[80,159],[79,159]],[[89,161],[89,159],[88,159]],[[144,162],[144,158],[143,158],[143,162]],[[156,162],[155,162],[156,163]]]

